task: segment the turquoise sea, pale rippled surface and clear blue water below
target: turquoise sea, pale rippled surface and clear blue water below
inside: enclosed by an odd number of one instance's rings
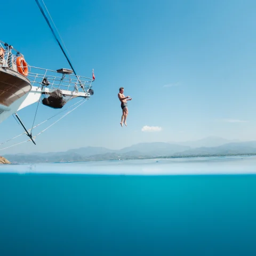
[[[256,157],[0,166],[0,255],[256,255]]]

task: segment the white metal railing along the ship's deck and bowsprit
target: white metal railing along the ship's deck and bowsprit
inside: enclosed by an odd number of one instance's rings
[[[23,55],[11,45],[0,41],[0,67],[9,68],[18,72],[17,57]],[[89,92],[92,87],[93,78],[77,76],[70,69],[50,70],[28,67],[28,75],[32,86],[47,86],[49,89],[60,89],[75,92]]]

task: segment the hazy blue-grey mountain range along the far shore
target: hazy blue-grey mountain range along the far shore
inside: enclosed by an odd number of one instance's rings
[[[116,150],[83,147],[57,153],[8,154],[4,157],[11,163],[44,163],[238,154],[256,154],[256,141],[207,137],[187,142],[145,142]]]

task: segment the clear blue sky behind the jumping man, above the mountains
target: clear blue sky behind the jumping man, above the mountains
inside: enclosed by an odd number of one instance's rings
[[[38,136],[37,146],[23,143],[1,154],[118,149],[210,135],[256,139],[255,1],[44,2],[77,74],[91,76],[94,69],[94,95]],[[2,12],[7,25],[0,40],[31,66],[69,68],[36,2],[14,0],[12,6]],[[123,128],[121,86],[132,97]],[[35,110],[19,112],[28,127]],[[57,111],[40,105],[36,123]],[[21,132],[11,116],[0,125],[0,141]]]

